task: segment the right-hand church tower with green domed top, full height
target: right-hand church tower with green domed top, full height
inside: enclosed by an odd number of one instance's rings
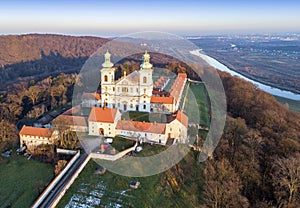
[[[150,112],[150,99],[153,90],[153,66],[150,63],[150,55],[145,52],[143,55],[143,63],[140,65],[140,102],[139,111]]]

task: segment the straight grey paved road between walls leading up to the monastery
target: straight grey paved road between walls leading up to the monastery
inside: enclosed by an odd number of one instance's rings
[[[72,165],[72,167],[65,173],[62,179],[56,184],[56,186],[52,189],[52,191],[47,195],[47,197],[43,200],[39,207],[48,208],[56,199],[56,197],[60,194],[63,187],[70,181],[71,177],[75,173],[75,171],[79,168],[81,163],[87,158],[87,154],[83,153],[79,156],[76,162]]]

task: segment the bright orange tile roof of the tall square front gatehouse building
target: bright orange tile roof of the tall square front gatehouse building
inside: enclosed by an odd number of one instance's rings
[[[114,123],[117,111],[117,108],[93,107],[89,116],[89,121]]]

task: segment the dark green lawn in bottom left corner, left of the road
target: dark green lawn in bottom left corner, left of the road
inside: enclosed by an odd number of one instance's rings
[[[50,164],[15,152],[0,161],[0,207],[30,207],[53,178]]]

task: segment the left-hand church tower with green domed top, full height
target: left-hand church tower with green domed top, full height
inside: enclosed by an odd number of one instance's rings
[[[105,107],[115,107],[115,68],[110,61],[111,54],[106,51],[101,73],[101,104]]]

